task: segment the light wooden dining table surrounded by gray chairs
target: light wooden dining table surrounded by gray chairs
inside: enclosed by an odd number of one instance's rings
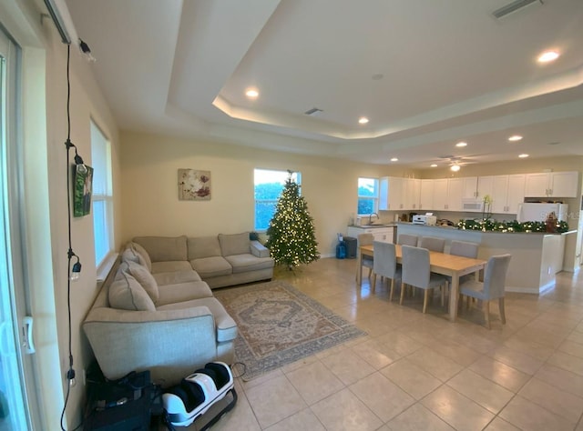
[[[400,264],[403,262],[401,246],[395,245],[394,248],[397,263]],[[372,245],[360,246],[359,250],[356,282],[358,286],[361,286],[363,282],[363,256],[374,256],[374,248]],[[430,251],[429,265],[431,272],[452,277],[449,293],[449,320],[455,322],[455,317],[457,316],[457,298],[459,296],[459,277],[472,273],[476,273],[477,277],[480,270],[486,266],[486,260]]]

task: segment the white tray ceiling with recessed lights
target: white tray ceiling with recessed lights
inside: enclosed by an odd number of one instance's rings
[[[416,168],[583,155],[583,1],[508,3],[66,1],[122,130]]]

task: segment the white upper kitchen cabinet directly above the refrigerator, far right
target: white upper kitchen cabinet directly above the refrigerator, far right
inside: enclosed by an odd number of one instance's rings
[[[527,174],[525,197],[577,197],[578,172]]]

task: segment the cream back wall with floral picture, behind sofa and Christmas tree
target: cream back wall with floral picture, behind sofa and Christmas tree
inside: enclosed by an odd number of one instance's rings
[[[124,132],[121,135],[123,238],[204,236],[253,230],[253,170],[302,172],[302,195],[322,255],[356,211],[359,176],[401,175],[384,165],[291,155],[217,142]],[[178,169],[208,170],[210,201],[179,201]]]

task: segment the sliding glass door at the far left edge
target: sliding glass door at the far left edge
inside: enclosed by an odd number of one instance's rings
[[[26,396],[27,328],[16,155],[19,51],[0,27],[0,431],[33,429]],[[23,331],[24,329],[24,331]],[[25,346],[26,345],[26,346]]]

